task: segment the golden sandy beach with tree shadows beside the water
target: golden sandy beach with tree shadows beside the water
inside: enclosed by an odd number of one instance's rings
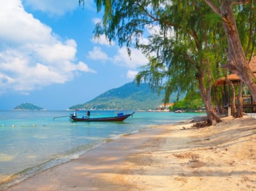
[[[156,126],[106,143],[8,191],[256,190],[256,120]]]

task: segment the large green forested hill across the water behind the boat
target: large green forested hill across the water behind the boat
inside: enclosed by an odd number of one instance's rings
[[[163,103],[164,94],[152,92],[148,84],[127,83],[119,88],[106,91],[84,104],[78,104],[69,109],[156,109]],[[170,98],[170,103],[176,100],[176,94]]]

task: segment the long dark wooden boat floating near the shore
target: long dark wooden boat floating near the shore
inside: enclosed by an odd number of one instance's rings
[[[71,114],[70,119],[71,121],[88,121],[88,122],[94,122],[94,121],[123,121],[126,118],[132,116],[135,112],[131,114],[123,114],[123,113],[118,113],[117,116],[112,116],[112,117],[77,117],[76,114]]]

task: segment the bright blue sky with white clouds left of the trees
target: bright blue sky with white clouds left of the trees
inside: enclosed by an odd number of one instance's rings
[[[0,1],[0,110],[67,109],[133,82],[147,59],[94,39],[101,18],[94,0]]]

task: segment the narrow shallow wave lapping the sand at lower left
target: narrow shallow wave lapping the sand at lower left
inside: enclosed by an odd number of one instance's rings
[[[104,143],[106,143],[106,140],[89,143],[85,146],[77,148],[75,151],[69,152],[68,154],[56,156],[56,158],[50,159],[45,163],[39,164],[35,167],[24,169],[23,171],[18,172],[15,175],[6,177],[5,181],[0,183],[0,190],[5,190],[10,186],[19,184],[20,182],[32,176],[35,176],[40,172],[46,171],[49,168],[55,167],[56,165],[67,163],[72,159],[78,159],[82,154],[85,154],[85,152],[93,150],[94,148],[97,148]]]

